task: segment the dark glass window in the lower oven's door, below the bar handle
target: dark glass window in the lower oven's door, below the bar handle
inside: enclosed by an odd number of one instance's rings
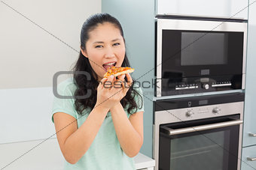
[[[226,170],[230,130],[172,139],[170,169]]]

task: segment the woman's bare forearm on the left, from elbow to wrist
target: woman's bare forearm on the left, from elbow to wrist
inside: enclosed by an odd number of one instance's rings
[[[102,109],[100,106],[95,107],[84,124],[66,139],[64,156],[66,160],[69,160],[69,163],[77,163],[90,148],[107,112],[108,109]]]

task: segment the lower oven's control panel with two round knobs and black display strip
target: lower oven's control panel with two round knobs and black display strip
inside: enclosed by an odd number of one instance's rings
[[[201,97],[157,100],[155,116],[166,123],[243,113],[245,94],[218,94]],[[166,116],[164,116],[166,115]]]

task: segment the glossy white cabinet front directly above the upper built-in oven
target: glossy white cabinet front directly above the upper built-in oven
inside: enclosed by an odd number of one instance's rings
[[[233,16],[248,19],[247,6],[248,0],[156,0],[156,13],[218,17]],[[243,8],[245,9],[242,10]]]

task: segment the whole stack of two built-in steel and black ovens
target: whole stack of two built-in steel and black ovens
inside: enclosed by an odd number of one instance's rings
[[[247,20],[156,17],[156,169],[239,170]]]

